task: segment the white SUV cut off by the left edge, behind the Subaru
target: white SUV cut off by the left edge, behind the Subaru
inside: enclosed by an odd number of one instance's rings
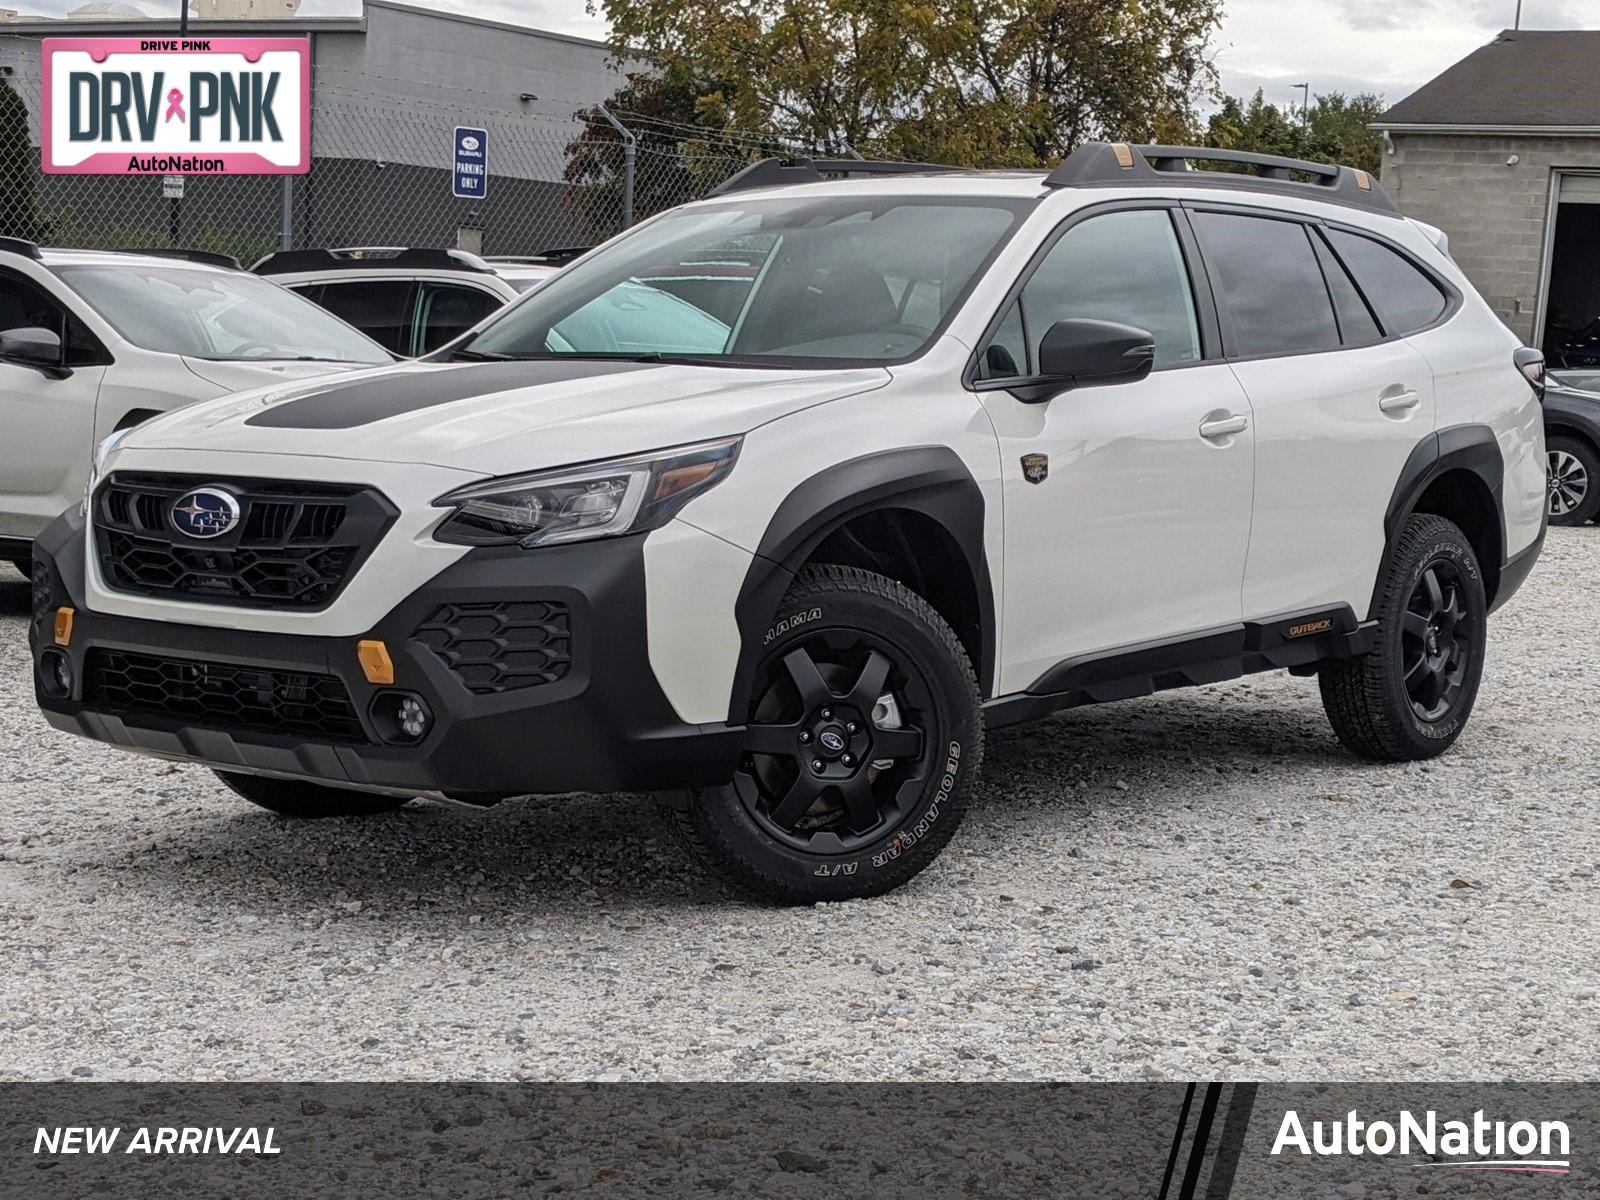
[[[0,558],[83,494],[109,434],[194,400],[392,363],[222,254],[0,238]]]

